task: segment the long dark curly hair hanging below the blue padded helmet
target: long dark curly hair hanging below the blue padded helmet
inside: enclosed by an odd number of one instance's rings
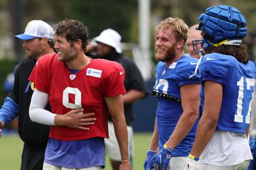
[[[205,49],[205,53],[222,53],[225,55],[232,55],[240,62],[247,64],[250,60],[250,56],[246,51],[245,45],[220,45],[220,46],[211,46]]]

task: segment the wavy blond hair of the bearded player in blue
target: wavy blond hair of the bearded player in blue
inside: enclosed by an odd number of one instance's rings
[[[188,39],[188,25],[181,20],[180,18],[166,18],[162,20],[158,25],[156,25],[155,30],[156,34],[158,33],[159,29],[172,29],[175,33],[176,41],[184,40],[184,44]]]

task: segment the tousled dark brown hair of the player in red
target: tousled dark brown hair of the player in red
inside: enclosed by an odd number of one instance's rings
[[[81,39],[83,50],[84,52],[86,51],[86,46],[89,43],[89,31],[83,22],[79,20],[62,20],[54,26],[54,31],[55,35],[65,37],[72,45],[78,39]]]

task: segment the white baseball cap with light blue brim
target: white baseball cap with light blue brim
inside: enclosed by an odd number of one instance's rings
[[[19,39],[48,38],[53,39],[52,27],[42,20],[31,20],[26,26],[24,34],[16,35]]]

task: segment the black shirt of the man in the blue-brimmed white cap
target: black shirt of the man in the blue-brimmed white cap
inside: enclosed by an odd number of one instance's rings
[[[19,104],[19,135],[26,146],[31,148],[45,148],[49,138],[50,127],[32,122],[29,118],[29,105],[33,94],[33,83],[28,78],[36,64],[35,59],[24,58],[15,67],[13,89],[8,95]],[[45,109],[51,111],[49,104]]]

